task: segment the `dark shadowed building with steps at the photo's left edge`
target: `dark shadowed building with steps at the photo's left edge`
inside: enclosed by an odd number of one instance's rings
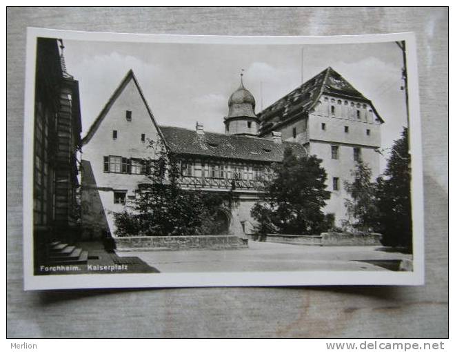
[[[57,39],[37,39],[33,175],[35,264],[49,260],[59,262],[61,253],[54,250],[52,242],[75,242],[79,235],[79,84],[66,72],[63,48],[63,42]],[[84,254],[72,253],[69,249],[64,255],[73,254],[74,260]]]

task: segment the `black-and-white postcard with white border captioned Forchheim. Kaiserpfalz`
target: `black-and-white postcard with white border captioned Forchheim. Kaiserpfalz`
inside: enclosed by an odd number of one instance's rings
[[[28,28],[24,286],[417,285],[412,33]]]

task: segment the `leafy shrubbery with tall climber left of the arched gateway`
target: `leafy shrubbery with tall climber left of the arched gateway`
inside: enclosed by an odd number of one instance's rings
[[[136,199],[114,213],[117,235],[207,235],[216,231],[221,195],[179,186],[176,157],[162,143],[151,144],[156,159],[143,159],[148,182],[139,184]]]

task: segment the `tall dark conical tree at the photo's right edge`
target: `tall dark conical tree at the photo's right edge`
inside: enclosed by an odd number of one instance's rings
[[[387,168],[376,180],[378,228],[383,244],[412,250],[411,155],[408,152],[407,128],[392,146]]]

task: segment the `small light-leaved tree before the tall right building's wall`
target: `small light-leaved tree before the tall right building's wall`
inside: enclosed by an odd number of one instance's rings
[[[372,170],[359,161],[351,176],[354,181],[345,182],[345,190],[350,195],[350,199],[345,199],[347,224],[358,231],[371,231],[376,226],[378,213],[376,186],[371,182]]]

